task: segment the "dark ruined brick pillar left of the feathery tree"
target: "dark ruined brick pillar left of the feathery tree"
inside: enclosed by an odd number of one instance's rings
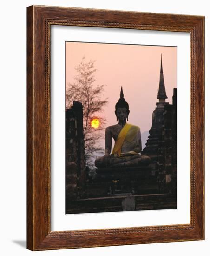
[[[73,101],[66,110],[66,200],[83,198],[87,168],[83,135],[83,106]]]

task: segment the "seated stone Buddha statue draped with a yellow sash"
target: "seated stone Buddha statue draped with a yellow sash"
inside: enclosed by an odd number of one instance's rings
[[[115,105],[118,124],[105,129],[105,154],[96,158],[96,167],[136,167],[149,164],[150,158],[140,153],[142,150],[140,128],[126,122],[129,113],[129,105],[124,99],[123,88],[121,87],[120,98]],[[112,138],[115,144],[111,153]]]

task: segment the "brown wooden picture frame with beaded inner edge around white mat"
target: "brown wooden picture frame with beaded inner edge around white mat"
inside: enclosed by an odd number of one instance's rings
[[[190,224],[51,231],[51,26],[190,33]],[[70,7],[27,7],[27,249],[70,249],[204,239],[204,17]]]

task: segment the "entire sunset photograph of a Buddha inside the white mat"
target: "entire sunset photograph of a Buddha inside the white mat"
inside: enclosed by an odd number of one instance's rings
[[[177,209],[177,46],[65,41],[65,214]]]

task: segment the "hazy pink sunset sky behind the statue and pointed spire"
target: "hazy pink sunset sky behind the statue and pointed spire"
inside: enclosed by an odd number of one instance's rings
[[[66,42],[66,88],[74,82],[74,68],[84,55],[87,61],[96,60],[96,84],[105,84],[103,97],[109,101],[103,113],[106,126],[117,123],[114,110],[123,86],[130,108],[128,123],[139,126],[143,133],[151,128],[158,102],[161,53],[166,101],[172,103],[173,88],[177,87],[177,47]]]

